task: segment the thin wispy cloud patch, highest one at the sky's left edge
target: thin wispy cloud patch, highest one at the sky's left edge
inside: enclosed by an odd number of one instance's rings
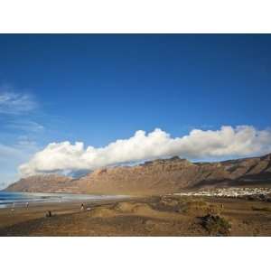
[[[0,113],[5,115],[21,115],[37,107],[34,98],[29,94],[5,90],[0,93]]]

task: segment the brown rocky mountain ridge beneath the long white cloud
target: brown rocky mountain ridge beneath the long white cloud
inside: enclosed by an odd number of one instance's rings
[[[192,163],[173,157],[104,168],[79,179],[39,175],[15,182],[6,191],[155,194],[243,185],[271,185],[271,154],[220,163]]]

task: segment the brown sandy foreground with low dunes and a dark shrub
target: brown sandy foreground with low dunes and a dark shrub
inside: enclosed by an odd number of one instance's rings
[[[87,202],[85,210],[42,204],[0,210],[0,236],[271,236],[271,203],[150,196]]]

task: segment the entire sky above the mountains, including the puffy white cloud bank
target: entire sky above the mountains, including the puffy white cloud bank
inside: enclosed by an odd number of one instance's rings
[[[271,152],[271,35],[0,34],[0,188]]]

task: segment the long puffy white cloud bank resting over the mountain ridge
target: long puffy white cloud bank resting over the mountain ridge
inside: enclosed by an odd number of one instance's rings
[[[271,152],[271,131],[253,126],[222,126],[220,130],[193,129],[189,135],[171,137],[161,129],[136,131],[105,147],[84,148],[83,143],[51,143],[19,167],[24,176],[55,171],[93,170],[158,157],[180,155],[188,159],[238,157]]]

